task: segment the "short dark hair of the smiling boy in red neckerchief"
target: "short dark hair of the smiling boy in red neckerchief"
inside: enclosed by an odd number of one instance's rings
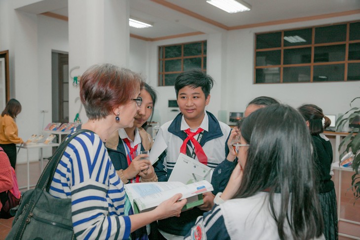
[[[180,73],[174,83],[177,98],[179,90],[186,86],[192,88],[201,87],[201,90],[203,90],[205,94],[205,98],[207,98],[210,94],[210,90],[213,88],[213,85],[214,79],[201,69],[191,69]]]

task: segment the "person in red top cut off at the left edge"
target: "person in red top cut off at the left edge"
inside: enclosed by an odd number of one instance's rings
[[[6,153],[0,147],[0,210],[2,208],[2,203],[6,202],[7,195],[6,191],[12,188],[12,170],[9,158]],[[1,218],[0,211],[0,218]]]

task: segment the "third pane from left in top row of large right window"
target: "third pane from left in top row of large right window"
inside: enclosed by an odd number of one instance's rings
[[[346,41],[346,24],[315,28],[315,43]]]

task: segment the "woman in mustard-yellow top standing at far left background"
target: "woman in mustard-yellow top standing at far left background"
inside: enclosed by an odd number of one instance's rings
[[[11,167],[16,166],[16,144],[23,143],[18,137],[18,129],[14,119],[21,112],[21,104],[16,99],[10,99],[0,116],[0,147],[7,154]]]

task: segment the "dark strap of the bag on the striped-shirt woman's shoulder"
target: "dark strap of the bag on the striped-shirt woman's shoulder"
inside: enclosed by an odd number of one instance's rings
[[[46,191],[48,192],[50,189],[51,181],[54,177],[56,168],[65,152],[66,147],[68,146],[69,142],[72,140],[72,138],[76,137],[79,134],[85,133],[85,132],[91,132],[90,130],[81,129],[74,133],[72,133],[66,141],[63,141],[59,147],[56,149],[55,154],[51,157],[50,161],[47,163],[45,169],[42,171],[39,180],[37,181],[36,187],[37,189],[44,190],[46,187]],[[36,206],[37,201],[39,200],[41,194],[37,194],[36,197],[32,197],[31,201],[28,203],[28,206],[25,209],[25,214],[23,215],[23,218],[21,219],[21,223],[19,224],[19,227],[16,231],[16,235],[14,239],[21,239],[22,235],[25,230],[25,224],[26,219],[28,218],[29,214],[33,211],[34,207]]]

